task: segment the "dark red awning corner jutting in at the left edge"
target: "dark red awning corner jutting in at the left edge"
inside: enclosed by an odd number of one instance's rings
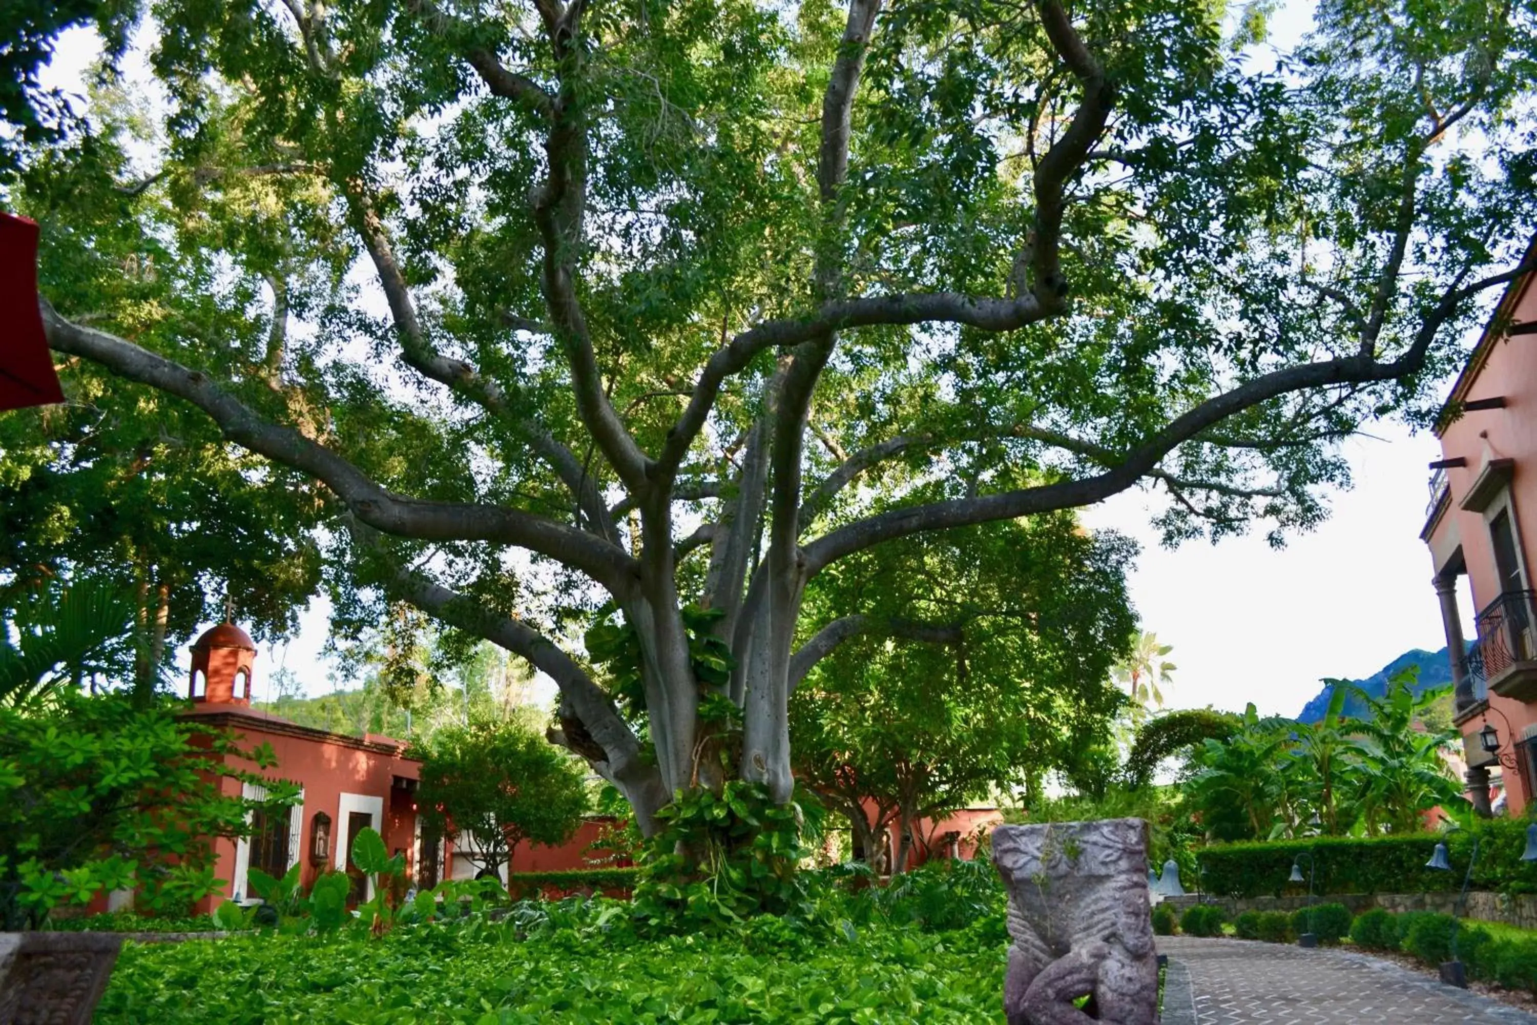
[[[37,310],[37,223],[0,212],[0,410],[61,401]]]

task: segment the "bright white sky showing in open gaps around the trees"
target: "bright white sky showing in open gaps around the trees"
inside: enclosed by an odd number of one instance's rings
[[[1273,17],[1271,40],[1290,48],[1310,15],[1308,0],[1291,0]],[[45,85],[80,89],[98,49],[92,32],[68,32]],[[1240,710],[1253,701],[1262,713],[1296,715],[1322,676],[1369,676],[1408,649],[1445,644],[1419,539],[1426,463],[1439,458],[1439,447],[1432,436],[1411,436],[1393,424],[1373,433],[1376,440],[1346,447],[1354,489],[1334,496],[1333,515],[1319,530],[1294,536],[1282,550],[1273,550],[1262,532],[1167,550],[1148,527],[1140,492],[1085,510],[1090,527],[1111,527],[1142,542],[1131,598],[1144,627],[1174,645],[1170,659],[1177,670],[1165,688],[1171,707]],[[321,599],[290,642],[263,645],[258,698],[267,696],[280,667],[294,670],[307,693],[332,690],[332,665],[321,655],[327,613]],[[1471,622],[1469,609],[1463,616]],[[184,670],[186,650],[178,658]],[[541,701],[553,693],[544,682]]]

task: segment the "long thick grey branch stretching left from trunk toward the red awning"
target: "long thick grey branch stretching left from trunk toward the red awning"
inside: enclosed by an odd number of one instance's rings
[[[321,481],[361,522],[377,530],[423,541],[512,544],[581,570],[615,595],[633,593],[635,561],[615,544],[515,509],[397,495],[292,427],[261,420],[206,373],[189,370],[115,335],[72,324],[55,313],[46,300],[40,309],[48,344],[55,352],[85,357],[121,378],[192,403],[212,416],[226,438]]]

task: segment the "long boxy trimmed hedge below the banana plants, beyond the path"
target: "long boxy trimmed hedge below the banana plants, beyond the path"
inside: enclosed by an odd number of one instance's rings
[[[1317,836],[1305,841],[1266,844],[1217,844],[1196,853],[1200,884],[1207,893],[1225,897],[1306,893],[1308,884],[1288,882],[1299,854],[1314,857],[1313,891],[1330,893],[1434,893],[1462,885],[1474,836],[1480,838],[1474,890],[1537,893],[1537,862],[1523,862],[1526,819],[1488,819],[1474,830],[1351,839]],[[1437,842],[1445,842],[1452,871],[1426,868]],[[1302,859],[1306,876],[1308,861]]]

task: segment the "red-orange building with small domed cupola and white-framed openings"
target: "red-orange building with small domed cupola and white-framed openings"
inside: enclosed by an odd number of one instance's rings
[[[255,833],[241,841],[215,841],[217,873],[223,896],[246,899],[246,871],[260,867],[281,876],[295,862],[303,865],[303,884],[327,868],[354,876],[354,899],[367,899],[372,884],[352,868],[350,845],[363,827],[372,827],[384,845],[406,853],[409,877],[433,885],[443,864],[443,842],[423,844],[417,818],[420,759],[406,744],[387,736],[363,738],[303,727],[251,707],[251,670],[257,645],[240,627],[223,622],[192,645],[188,696],[183,715],[240,738],[243,748],[271,744],[277,765],[260,770],[255,762],[231,756],[229,764],[284,779],[303,788],[303,801],[272,814],[257,811]],[[261,799],[266,791],[252,784],[223,778],[227,793],[243,791]],[[206,897],[197,911],[209,911],[220,897]]]

